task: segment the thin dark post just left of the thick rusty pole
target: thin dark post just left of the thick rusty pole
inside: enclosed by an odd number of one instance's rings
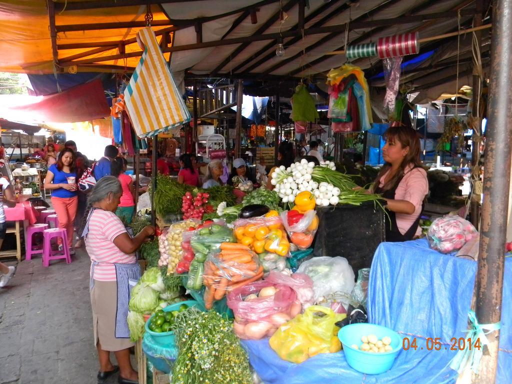
[[[477,14],[473,16],[473,27],[480,27],[482,25],[482,12],[483,12],[483,4],[482,0],[477,0]],[[482,32],[476,31],[473,32],[475,34],[473,41],[473,49],[478,50],[481,53],[480,44],[482,41]],[[478,55],[480,56],[480,55]],[[479,111],[479,101],[482,93],[482,64],[475,60],[475,54],[473,55],[473,105],[471,110],[471,115],[474,119],[473,121],[473,135],[471,137],[472,141],[472,150],[471,150],[471,180],[473,183],[473,188],[475,186],[476,181],[480,181],[480,165],[478,164],[478,154],[480,152],[480,138],[482,133],[481,130],[481,118]],[[471,195],[471,222],[473,225],[478,228],[478,223],[480,221],[480,194],[473,193]]]

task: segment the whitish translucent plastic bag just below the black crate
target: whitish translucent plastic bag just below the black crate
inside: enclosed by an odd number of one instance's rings
[[[315,303],[336,292],[350,295],[355,276],[347,259],[342,257],[318,257],[305,261],[297,272],[306,273],[313,280]]]

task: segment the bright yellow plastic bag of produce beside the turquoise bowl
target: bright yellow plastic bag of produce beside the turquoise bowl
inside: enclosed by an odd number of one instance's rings
[[[297,364],[318,353],[338,352],[342,345],[334,323],[345,317],[346,314],[334,313],[326,307],[311,306],[275,331],[269,340],[270,347],[283,360]]]

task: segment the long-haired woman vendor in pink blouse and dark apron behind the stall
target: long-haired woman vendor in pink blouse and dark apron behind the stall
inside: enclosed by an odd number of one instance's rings
[[[412,240],[421,234],[419,219],[423,200],[429,193],[429,182],[419,159],[418,134],[409,127],[391,126],[384,138],[382,157],[386,163],[371,190],[387,202],[386,241]]]

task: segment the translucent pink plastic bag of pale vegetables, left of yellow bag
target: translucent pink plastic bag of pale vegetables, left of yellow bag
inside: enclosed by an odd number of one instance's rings
[[[242,339],[271,336],[278,327],[299,314],[302,305],[290,287],[258,281],[233,289],[227,305],[233,310],[234,333]]]

